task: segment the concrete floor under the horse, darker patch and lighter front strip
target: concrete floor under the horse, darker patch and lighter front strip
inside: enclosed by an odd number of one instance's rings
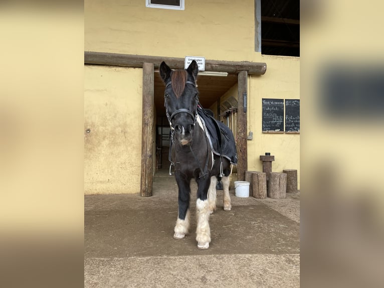
[[[196,185],[191,185],[193,190]],[[85,287],[299,287],[300,193],[238,198],[210,217],[212,242],[199,250],[196,220],[175,240],[177,185],[159,171],[153,196],[85,196]],[[196,192],[191,195],[195,214]]]

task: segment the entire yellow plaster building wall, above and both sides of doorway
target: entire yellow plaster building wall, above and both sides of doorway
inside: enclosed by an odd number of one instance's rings
[[[84,9],[85,51],[266,62],[265,75],[248,78],[248,170],[261,170],[259,155],[270,152],[273,171],[298,169],[300,183],[300,135],[261,132],[261,98],[300,98],[300,60],[254,52],[254,0],[186,1],[184,11],[146,8],[144,0],[86,0]],[[86,66],[85,129],[96,127],[85,135],[86,193],[139,192],[141,95],[141,69]],[[222,101],[231,95],[237,85]]]

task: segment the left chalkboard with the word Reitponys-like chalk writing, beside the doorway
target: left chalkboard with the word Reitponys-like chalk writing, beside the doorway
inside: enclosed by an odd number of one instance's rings
[[[284,131],[284,100],[262,99],[263,106],[263,132]]]

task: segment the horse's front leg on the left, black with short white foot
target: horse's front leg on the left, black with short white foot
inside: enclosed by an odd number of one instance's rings
[[[177,174],[175,176],[178,186],[178,216],[174,226],[173,238],[182,239],[185,234],[188,234],[189,229],[190,180]]]

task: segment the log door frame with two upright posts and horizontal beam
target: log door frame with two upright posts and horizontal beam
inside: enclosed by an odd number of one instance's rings
[[[171,69],[183,69],[184,58],[129,55],[104,52],[84,52],[84,64],[143,68],[142,149],[140,195],[152,196],[153,182],[153,125],[154,125],[154,69],[165,61]],[[237,158],[238,180],[244,181],[247,170],[247,112],[244,93],[248,94],[248,75],[264,75],[267,64],[249,61],[206,60],[206,70],[238,74]]]

